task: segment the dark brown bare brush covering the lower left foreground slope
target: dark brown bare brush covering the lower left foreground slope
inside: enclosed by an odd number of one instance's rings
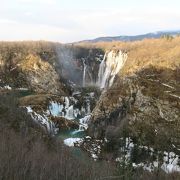
[[[84,180],[113,174],[109,164],[81,160],[44,134],[14,96],[0,94],[0,179]]]

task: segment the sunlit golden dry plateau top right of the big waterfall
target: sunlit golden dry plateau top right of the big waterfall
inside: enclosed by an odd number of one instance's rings
[[[180,37],[168,40],[145,39],[135,42],[100,42],[94,44],[81,43],[79,46],[102,48],[104,50],[121,49],[128,53],[128,60],[123,74],[133,73],[149,66],[156,68],[176,69],[180,66]]]

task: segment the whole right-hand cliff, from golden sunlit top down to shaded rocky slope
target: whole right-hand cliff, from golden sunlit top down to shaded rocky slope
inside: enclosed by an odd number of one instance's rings
[[[177,49],[180,47],[177,42],[179,39],[122,45],[128,47],[128,59],[113,85],[103,90],[92,112],[90,136],[105,139],[116,153],[120,152],[122,138],[130,137],[141,147],[179,154],[180,55]],[[150,49],[148,57],[144,56]]]

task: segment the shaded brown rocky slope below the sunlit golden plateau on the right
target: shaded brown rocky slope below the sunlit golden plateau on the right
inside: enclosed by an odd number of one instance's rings
[[[178,72],[172,70],[171,74]],[[167,83],[162,75],[162,70],[154,69],[152,76],[149,69],[144,69],[134,76],[118,78],[102,93],[93,110],[89,135],[105,138],[113,145],[126,134],[141,145],[163,150],[179,148],[179,81],[171,79]]]

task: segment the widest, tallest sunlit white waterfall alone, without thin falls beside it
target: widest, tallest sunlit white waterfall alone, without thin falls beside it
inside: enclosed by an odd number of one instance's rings
[[[99,66],[98,86],[100,88],[111,87],[115,76],[124,66],[127,60],[127,54],[122,51],[112,50],[106,52],[104,59]]]

